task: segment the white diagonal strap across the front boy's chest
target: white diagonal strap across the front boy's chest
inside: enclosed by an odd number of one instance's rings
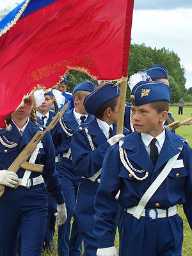
[[[182,150],[182,147],[179,147],[180,150]],[[147,205],[150,198],[156,193],[157,189],[163,181],[166,179],[168,174],[171,172],[173,165],[177,161],[177,158],[179,157],[180,152],[169,159],[169,161],[166,163],[166,166],[164,166],[161,173],[157,176],[157,178],[154,180],[154,182],[150,185],[150,187],[145,191],[145,194],[141,197],[141,200],[139,204],[136,207],[136,210],[134,211],[134,214],[132,214],[135,218],[138,220],[141,217],[141,213],[143,212],[143,209],[145,209],[145,206]]]

